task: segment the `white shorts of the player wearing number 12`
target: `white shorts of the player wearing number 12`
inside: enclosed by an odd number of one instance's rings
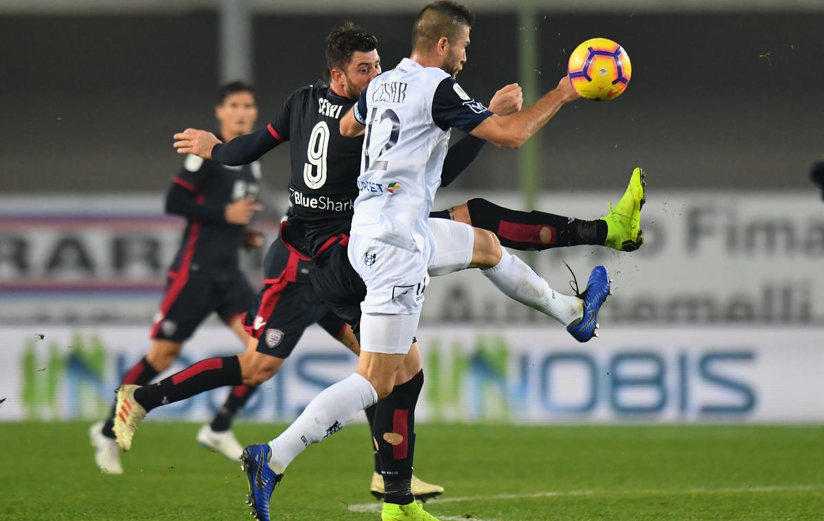
[[[475,245],[471,226],[433,218],[428,228],[424,251],[355,234],[349,237],[349,262],[367,289],[361,303],[361,349],[408,353],[429,275],[446,275],[470,265]],[[409,317],[392,319],[394,315]]]

